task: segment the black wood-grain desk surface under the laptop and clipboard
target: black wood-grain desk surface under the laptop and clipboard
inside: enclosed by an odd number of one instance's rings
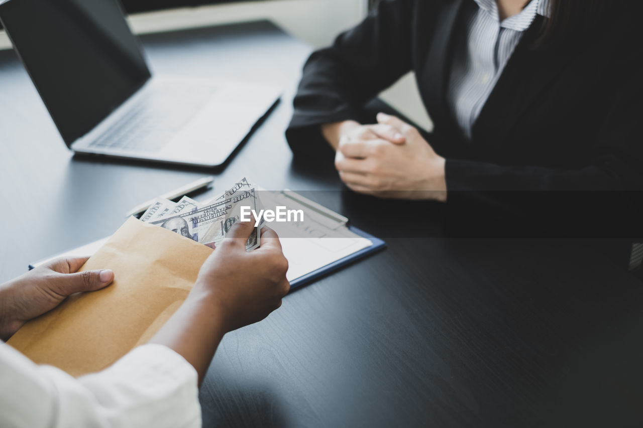
[[[222,172],[266,188],[340,190],[284,139],[310,48],[267,22],[147,35],[156,73],[282,85]],[[0,52],[0,281],[112,233],[132,206],[208,170],[73,157],[14,53]],[[386,236],[391,202],[323,203]],[[381,208],[375,210],[373,208]],[[428,221],[439,228],[439,208]],[[431,210],[431,208],[429,208]],[[434,215],[435,214],[435,215]],[[435,218],[434,218],[435,217]],[[408,226],[408,236],[412,236]],[[643,287],[582,242],[390,238],[224,338],[204,426],[623,426],[643,421]]]

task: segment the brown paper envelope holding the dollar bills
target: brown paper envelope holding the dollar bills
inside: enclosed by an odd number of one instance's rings
[[[7,343],[37,364],[73,376],[102,370],[149,341],[183,303],[211,253],[203,244],[129,218],[80,269],[112,269],[114,282],[70,296]]]

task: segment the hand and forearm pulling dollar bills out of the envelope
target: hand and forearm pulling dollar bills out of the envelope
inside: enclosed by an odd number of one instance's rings
[[[201,266],[183,305],[150,341],[183,356],[199,373],[199,382],[223,335],[267,317],[290,290],[288,262],[272,229],[262,229],[260,248],[245,251],[244,242],[256,230],[253,222],[230,228]]]

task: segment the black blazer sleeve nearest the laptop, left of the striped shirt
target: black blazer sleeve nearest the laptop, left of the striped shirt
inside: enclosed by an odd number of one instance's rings
[[[286,138],[296,156],[316,157],[329,145],[320,125],[358,120],[365,102],[412,68],[413,1],[381,1],[331,47],[312,53],[303,66]]]

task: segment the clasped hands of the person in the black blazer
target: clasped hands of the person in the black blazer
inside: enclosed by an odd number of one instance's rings
[[[345,121],[324,125],[336,141],[335,167],[351,190],[393,199],[446,201],[444,157],[404,121],[377,114],[377,123]]]

